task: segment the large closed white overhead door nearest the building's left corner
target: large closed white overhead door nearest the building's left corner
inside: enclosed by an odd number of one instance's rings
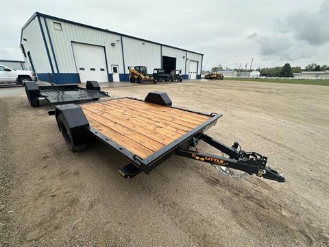
[[[72,43],[75,65],[81,82],[108,82],[104,47]]]

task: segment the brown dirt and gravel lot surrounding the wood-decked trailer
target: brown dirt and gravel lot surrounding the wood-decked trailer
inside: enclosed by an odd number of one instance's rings
[[[329,87],[183,82],[108,89],[166,91],[174,106],[223,113],[210,136],[269,157],[286,183],[229,178],[171,156],[127,180],[127,162],[95,141],[66,148],[53,108],[0,99],[1,246],[328,246]],[[199,150],[212,152],[203,143]]]

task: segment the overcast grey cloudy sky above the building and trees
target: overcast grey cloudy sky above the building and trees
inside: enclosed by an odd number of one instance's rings
[[[329,64],[329,0],[0,0],[0,59],[22,59],[21,27],[34,12],[204,54],[204,69]]]

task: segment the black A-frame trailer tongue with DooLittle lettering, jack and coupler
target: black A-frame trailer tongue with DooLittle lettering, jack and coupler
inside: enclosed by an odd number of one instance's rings
[[[220,165],[223,167],[237,169],[250,175],[256,174],[256,176],[276,180],[280,183],[285,181],[282,174],[279,174],[276,170],[271,169],[271,167],[267,165],[267,157],[257,154],[256,152],[245,152],[243,150],[238,150],[239,143],[237,141],[234,142],[232,147],[229,147],[228,145],[212,139],[212,137],[209,137],[206,134],[202,134],[198,139],[208,143],[212,147],[221,151],[223,154],[228,155],[229,158],[212,154],[204,154],[202,152],[197,152],[197,150],[192,151],[188,149],[177,149],[175,150],[175,153],[186,158],[192,158],[196,161],[203,161],[212,165]],[[194,139],[188,148],[196,147],[196,145],[197,139]]]

